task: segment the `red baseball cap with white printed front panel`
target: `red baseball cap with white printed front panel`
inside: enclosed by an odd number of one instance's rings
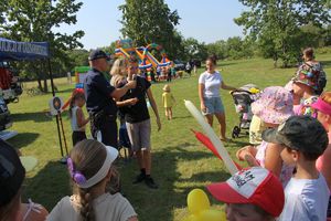
[[[261,167],[243,169],[225,182],[209,185],[207,190],[225,203],[249,203],[278,217],[284,208],[284,190],[278,178]]]

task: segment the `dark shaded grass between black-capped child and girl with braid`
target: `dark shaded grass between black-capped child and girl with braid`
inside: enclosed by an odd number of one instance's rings
[[[26,178],[23,183],[23,202],[31,198],[51,211],[64,197],[70,196],[67,170],[65,165],[50,161],[33,178]]]

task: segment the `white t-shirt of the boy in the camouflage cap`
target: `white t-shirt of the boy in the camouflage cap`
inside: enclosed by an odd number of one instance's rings
[[[324,177],[291,178],[285,188],[285,206],[278,221],[325,221],[330,191]]]

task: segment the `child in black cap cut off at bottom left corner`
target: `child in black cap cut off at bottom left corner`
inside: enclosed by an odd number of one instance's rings
[[[25,169],[18,151],[0,139],[0,221],[44,221],[49,212],[40,204],[21,203]]]

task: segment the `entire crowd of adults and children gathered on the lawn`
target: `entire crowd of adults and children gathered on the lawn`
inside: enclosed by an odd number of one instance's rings
[[[109,193],[108,183],[118,181],[114,162],[118,157],[116,119],[127,128],[131,150],[140,172],[134,183],[158,185],[151,178],[150,104],[158,130],[160,116],[151,84],[138,74],[135,56],[115,61],[110,82],[107,54],[90,53],[90,71],[84,94],[75,93],[71,102],[73,144],[67,169],[73,194],[64,197],[49,213],[42,206],[21,202],[25,170],[17,150],[0,140],[0,221],[2,220],[138,220],[130,202],[120,192]],[[250,168],[227,181],[206,188],[226,203],[229,221],[325,221],[331,215],[331,92],[323,92],[325,76],[312,49],[303,51],[305,62],[285,86],[265,88],[252,104],[249,141],[236,157]],[[199,77],[201,112],[210,125],[215,115],[220,139],[225,136],[225,110],[220,88],[237,90],[224,83],[214,56],[207,57],[206,71]],[[162,101],[166,116],[172,118],[174,98],[164,85]],[[147,102],[148,99],[148,102]],[[88,117],[82,108],[86,104]],[[85,125],[90,123],[94,139],[87,139]]]

